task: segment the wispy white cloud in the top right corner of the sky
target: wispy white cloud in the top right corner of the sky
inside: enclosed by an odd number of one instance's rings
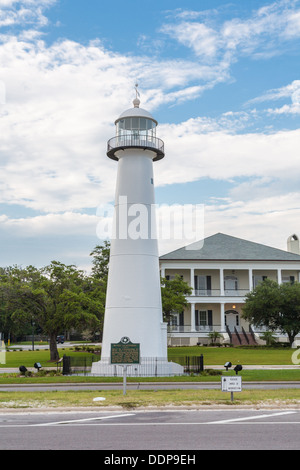
[[[223,61],[228,67],[237,55],[270,57],[282,50],[286,41],[300,37],[299,2],[279,0],[253,11],[248,19],[233,18],[217,24],[215,10],[205,22],[197,21],[196,12],[181,11],[176,23],[162,31],[191,48],[206,62]],[[189,18],[190,21],[186,21]]]

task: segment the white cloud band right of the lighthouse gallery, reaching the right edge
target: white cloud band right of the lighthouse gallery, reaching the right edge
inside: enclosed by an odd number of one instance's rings
[[[219,123],[215,123],[214,129],[213,121],[203,119],[190,119],[159,129],[165,141],[166,158],[155,166],[159,165],[156,184],[200,178],[300,176],[300,130],[235,134],[221,129]]]

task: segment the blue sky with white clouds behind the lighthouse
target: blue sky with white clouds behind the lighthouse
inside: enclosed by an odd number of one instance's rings
[[[204,237],[300,236],[300,0],[0,0],[0,266],[90,270],[135,83],[165,143],[158,219],[201,205]]]

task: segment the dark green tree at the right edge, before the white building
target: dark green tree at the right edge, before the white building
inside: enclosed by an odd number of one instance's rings
[[[246,295],[243,318],[255,326],[287,334],[292,346],[300,332],[300,284],[265,279]]]

